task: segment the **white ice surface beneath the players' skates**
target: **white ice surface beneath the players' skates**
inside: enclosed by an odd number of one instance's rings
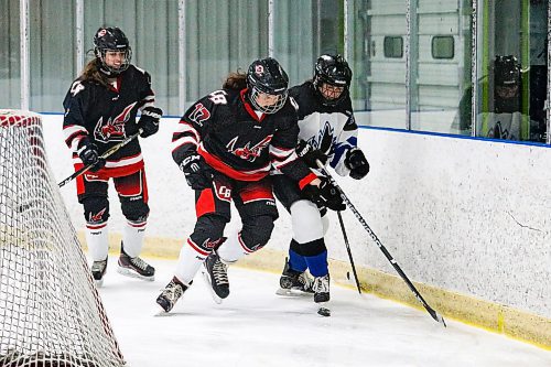
[[[148,260],[154,282],[118,274],[111,257],[100,289],[131,367],[551,366],[551,352],[449,319],[444,328],[424,311],[333,284],[332,316],[322,317],[312,298],[276,295],[278,274],[236,267],[222,304],[199,271],[174,310],[156,316],[175,261]]]

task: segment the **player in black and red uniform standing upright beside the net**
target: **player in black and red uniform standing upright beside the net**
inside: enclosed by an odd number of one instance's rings
[[[154,106],[149,74],[130,64],[132,50],[118,28],[100,28],[94,36],[95,58],[72,84],[63,106],[65,142],[75,170],[93,165],[76,179],[84,206],[91,272],[101,285],[107,268],[108,182],[112,179],[127,224],[119,257],[120,273],[154,280],[155,270],[139,258],[149,206],[141,148],[134,139],[107,160],[100,155],[142,129],[147,138],[159,130],[162,110]],[[137,114],[141,112],[137,121]]]

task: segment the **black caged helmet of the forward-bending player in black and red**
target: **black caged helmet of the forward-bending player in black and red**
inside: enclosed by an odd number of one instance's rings
[[[247,72],[247,87],[250,102],[256,109],[264,114],[276,114],[285,105],[289,77],[274,58],[256,60]],[[278,96],[277,102],[271,106],[259,106],[257,99],[260,93]]]

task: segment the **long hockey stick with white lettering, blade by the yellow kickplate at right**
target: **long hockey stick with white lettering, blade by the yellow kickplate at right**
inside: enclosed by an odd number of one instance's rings
[[[348,206],[348,208],[352,211],[352,213],[354,214],[354,216],[356,217],[356,219],[358,219],[358,222],[361,224],[361,226],[364,227],[364,229],[367,230],[368,235],[371,237],[371,239],[375,241],[375,244],[379,247],[379,249],[382,251],[382,253],[385,253],[385,256],[387,257],[388,261],[390,261],[390,265],[392,265],[392,267],[398,272],[398,274],[400,274],[400,277],[402,278],[402,280],[406,282],[406,284],[408,284],[408,287],[410,288],[410,290],[413,292],[413,294],[415,295],[415,299],[423,305],[423,307],[429,312],[429,314],[431,315],[432,319],[434,319],[439,323],[442,323],[444,325],[444,327],[445,327],[446,323],[444,321],[444,317],[442,317],[436,311],[434,311],[426,303],[426,301],[423,299],[423,296],[421,295],[421,293],[419,293],[419,291],[417,290],[415,285],[413,285],[413,283],[409,280],[409,278],[406,276],[406,273],[403,272],[403,270],[400,268],[400,266],[398,265],[398,262],[392,258],[392,256],[387,250],[387,248],[385,246],[382,246],[381,241],[375,235],[375,233],[371,230],[371,228],[369,228],[369,226],[367,225],[366,220],[364,220],[364,217],[361,216],[361,214],[359,214],[359,212],[356,209],[356,207],[354,206],[354,204],[352,204],[352,202],[348,199],[348,197],[346,197],[345,193],[343,192],[343,188],[341,188],[341,186],[338,186],[338,184],[335,182],[335,179],[333,179],[333,176],[327,172],[327,170],[325,170],[325,168],[323,166],[322,162],[316,161],[316,163],[317,163],[317,166],[320,168],[320,171],[329,180],[329,182],[333,185],[335,185],[336,188],[338,188],[338,192],[341,193],[341,197],[345,202],[346,206]]]

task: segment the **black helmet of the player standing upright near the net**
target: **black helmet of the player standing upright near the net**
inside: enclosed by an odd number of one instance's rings
[[[119,68],[114,68],[105,62],[108,51],[125,52],[125,61]],[[118,75],[128,68],[132,60],[132,48],[125,33],[118,28],[100,28],[94,35],[94,54],[101,62],[100,71],[109,76]]]

